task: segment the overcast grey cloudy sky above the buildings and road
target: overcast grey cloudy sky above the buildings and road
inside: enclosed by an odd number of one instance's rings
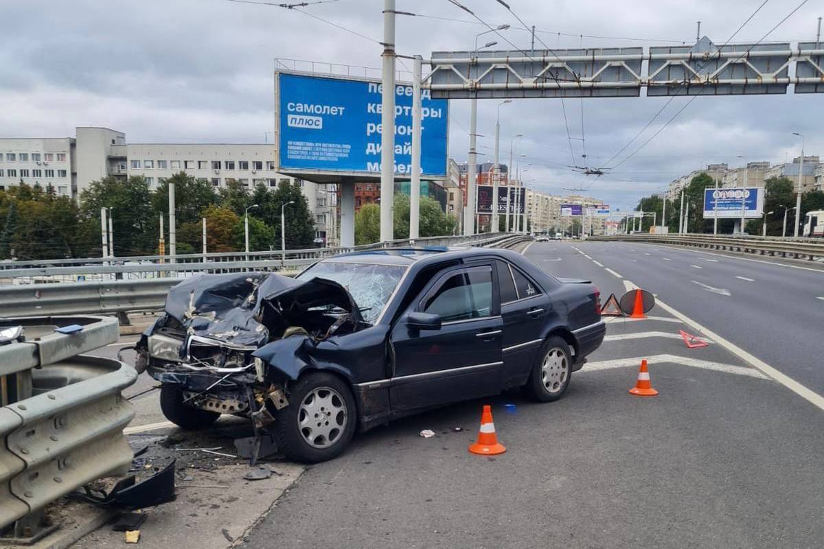
[[[762,1],[508,3],[527,25],[536,26],[549,47],[564,49],[690,41],[695,21],[702,21],[702,35],[723,44]],[[124,131],[129,142],[271,142],[274,58],[380,66],[380,0],[337,0],[302,12],[260,2],[2,0],[0,136],[73,136],[76,126],[95,125]],[[761,39],[800,2],[766,2],[733,42]],[[529,34],[499,3],[464,3],[493,26],[510,24],[503,31],[508,40],[528,47]],[[397,0],[397,9],[418,14],[399,17],[400,54],[427,58],[433,50],[471,49],[475,35],[486,30],[447,0]],[[822,15],[824,0],[808,0],[765,41],[815,40]],[[498,37],[489,40],[508,47]],[[673,100],[622,156],[686,101]],[[498,102],[480,102],[478,133],[489,136],[479,138],[478,150],[488,155],[480,161],[492,160]],[[565,107],[570,133],[585,137],[588,163],[594,166],[615,155],[666,102],[644,96],[584,100],[583,131],[581,101],[566,100]],[[751,161],[791,159],[800,145],[793,132],[807,136],[808,154],[824,156],[824,95],[699,97],[602,178],[561,167],[572,158],[559,100],[517,100],[503,106],[501,114],[503,160],[506,137],[524,134],[517,152],[527,156],[525,165],[531,164],[524,174],[528,186],[556,194],[584,188],[613,208],[633,206],[639,197],[708,163],[739,165],[738,155]],[[452,101],[449,152],[456,161],[466,160],[468,128],[469,103]],[[573,147],[580,162],[581,142],[574,140]]]

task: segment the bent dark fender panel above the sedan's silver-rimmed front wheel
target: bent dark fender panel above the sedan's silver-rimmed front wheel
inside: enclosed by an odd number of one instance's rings
[[[312,356],[319,346],[334,345],[328,341],[316,342],[311,337],[300,334],[269,342],[252,353],[266,365],[265,377],[269,383],[279,384],[285,377],[296,381],[306,370],[331,370],[351,381],[349,371],[327,361],[316,361]]]

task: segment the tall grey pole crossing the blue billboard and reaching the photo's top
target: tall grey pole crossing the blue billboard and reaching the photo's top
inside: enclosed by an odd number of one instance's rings
[[[383,0],[381,113],[381,241],[394,238],[395,203],[395,0]]]

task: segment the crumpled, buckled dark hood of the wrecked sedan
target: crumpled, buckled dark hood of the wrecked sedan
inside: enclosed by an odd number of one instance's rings
[[[265,304],[288,314],[311,306],[334,305],[360,322],[352,295],[335,281],[298,281],[269,272],[199,274],[174,286],[166,295],[166,314],[190,335],[260,347],[269,329],[260,322]]]

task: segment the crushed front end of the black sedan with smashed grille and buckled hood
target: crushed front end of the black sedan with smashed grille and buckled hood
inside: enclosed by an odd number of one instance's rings
[[[186,279],[164,313],[138,342],[138,371],[182,404],[248,416],[255,430],[288,406],[287,384],[318,345],[370,326],[335,281],[261,272]]]

